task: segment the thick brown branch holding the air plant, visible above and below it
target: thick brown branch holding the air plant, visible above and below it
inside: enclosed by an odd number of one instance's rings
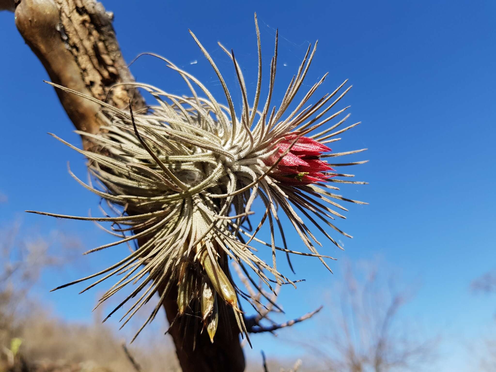
[[[13,1],[0,0],[4,9]],[[145,107],[141,95],[126,86],[113,85],[133,81],[112,27],[113,15],[95,0],[15,0],[15,24],[45,66],[53,82],[106,100],[125,108],[132,99],[134,109]],[[2,7],[0,7],[0,10]],[[113,88],[112,88],[113,87]],[[97,133],[105,118],[99,105],[56,90],[63,108],[77,129]],[[83,147],[91,142],[83,138]],[[98,151],[98,149],[93,149]],[[140,242],[141,243],[141,242]],[[178,312],[177,293],[171,291],[164,308],[169,322]],[[184,372],[242,372],[245,358],[239,342],[234,316],[219,327],[214,344],[200,329],[180,326],[170,330]],[[196,345],[193,343],[196,333]]]

